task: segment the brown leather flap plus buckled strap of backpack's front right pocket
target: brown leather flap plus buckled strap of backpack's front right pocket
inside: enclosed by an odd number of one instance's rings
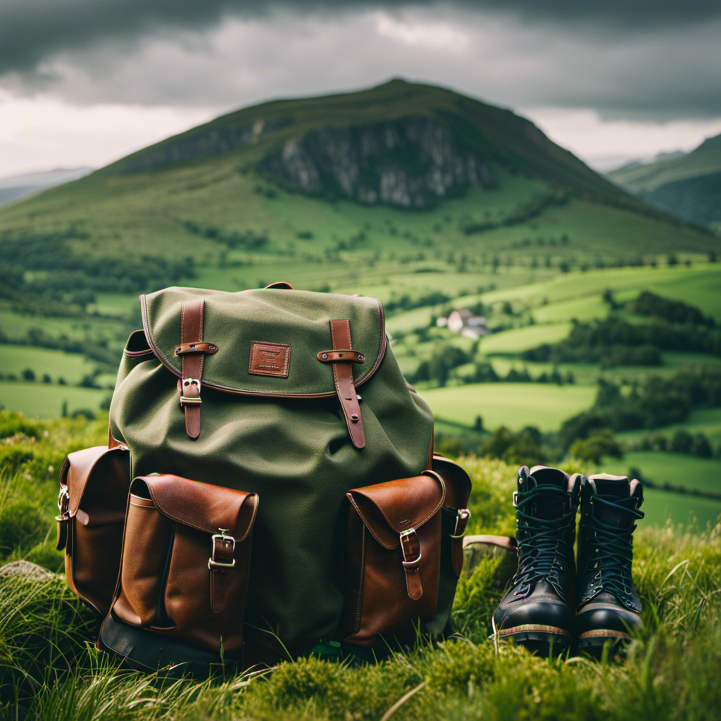
[[[423,596],[419,532],[441,510],[446,497],[443,480],[433,471],[425,471],[415,478],[356,488],[347,495],[382,547],[388,550],[400,547],[407,593],[417,601]]]

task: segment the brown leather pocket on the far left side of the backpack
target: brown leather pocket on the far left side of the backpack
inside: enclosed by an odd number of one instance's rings
[[[60,474],[58,550],[65,550],[68,585],[105,615],[120,568],[128,448],[96,446],[68,454]]]

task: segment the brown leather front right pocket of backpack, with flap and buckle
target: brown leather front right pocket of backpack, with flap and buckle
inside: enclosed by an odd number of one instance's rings
[[[426,471],[348,492],[348,559],[341,640],[371,646],[389,634],[412,640],[433,617],[446,490]]]

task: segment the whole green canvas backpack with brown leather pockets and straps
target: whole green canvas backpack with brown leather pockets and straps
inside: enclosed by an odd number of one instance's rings
[[[99,647],[208,673],[448,632],[471,482],[433,454],[377,298],[141,296],[108,446],[68,455],[58,548]]]

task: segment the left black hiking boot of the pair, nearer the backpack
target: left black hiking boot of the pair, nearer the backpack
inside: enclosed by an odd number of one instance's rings
[[[561,653],[573,629],[573,541],[581,475],[523,466],[513,494],[518,570],[493,614],[493,631],[540,653]]]

